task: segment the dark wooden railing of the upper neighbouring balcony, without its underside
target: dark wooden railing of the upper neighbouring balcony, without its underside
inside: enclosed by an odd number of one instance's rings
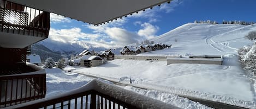
[[[25,5],[0,0],[0,31],[13,34],[48,37],[50,13]]]

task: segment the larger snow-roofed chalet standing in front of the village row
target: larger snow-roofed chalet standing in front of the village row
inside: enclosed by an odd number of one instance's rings
[[[95,67],[103,64],[103,59],[99,56],[84,55],[80,57],[80,66]]]

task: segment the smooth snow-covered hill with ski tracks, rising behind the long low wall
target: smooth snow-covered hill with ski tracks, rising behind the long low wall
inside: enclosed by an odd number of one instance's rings
[[[252,30],[256,25],[187,23],[151,39],[154,43],[172,44],[172,49],[140,55],[237,54],[237,49],[253,43],[244,38]]]

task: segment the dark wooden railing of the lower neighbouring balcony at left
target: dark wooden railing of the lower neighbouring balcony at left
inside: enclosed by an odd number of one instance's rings
[[[45,98],[45,69],[32,64],[27,66],[38,71],[0,76],[0,108]]]

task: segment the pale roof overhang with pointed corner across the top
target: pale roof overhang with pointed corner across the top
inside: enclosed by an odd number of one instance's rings
[[[102,24],[171,0],[8,0],[90,24]]]

